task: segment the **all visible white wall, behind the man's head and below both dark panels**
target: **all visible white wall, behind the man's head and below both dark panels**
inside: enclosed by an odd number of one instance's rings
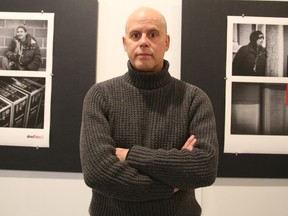
[[[126,71],[124,22],[142,5],[166,16],[171,36],[166,59],[171,74],[180,77],[181,0],[99,0],[98,82]],[[90,198],[81,173],[0,170],[0,215],[88,216]],[[286,216],[288,179],[218,178],[198,189],[197,199],[203,216]]]

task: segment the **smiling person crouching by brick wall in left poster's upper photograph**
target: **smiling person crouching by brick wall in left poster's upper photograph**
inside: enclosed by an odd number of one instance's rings
[[[4,70],[38,71],[42,63],[39,45],[25,26],[18,26],[5,56],[2,58]]]

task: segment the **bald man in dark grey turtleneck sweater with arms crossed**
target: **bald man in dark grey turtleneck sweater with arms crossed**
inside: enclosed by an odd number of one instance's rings
[[[83,106],[80,154],[93,216],[198,216],[195,188],[215,181],[213,109],[199,88],[170,76],[163,15],[127,20],[128,72],[95,84]]]

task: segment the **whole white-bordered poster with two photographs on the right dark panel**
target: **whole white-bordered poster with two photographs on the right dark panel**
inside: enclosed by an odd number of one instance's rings
[[[288,154],[288,19],[227,20],[224,151]]]

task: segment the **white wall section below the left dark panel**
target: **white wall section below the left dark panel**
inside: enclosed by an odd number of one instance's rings
[[[90,195],[80,173],[0,170],[1,216],[88,216]]]

